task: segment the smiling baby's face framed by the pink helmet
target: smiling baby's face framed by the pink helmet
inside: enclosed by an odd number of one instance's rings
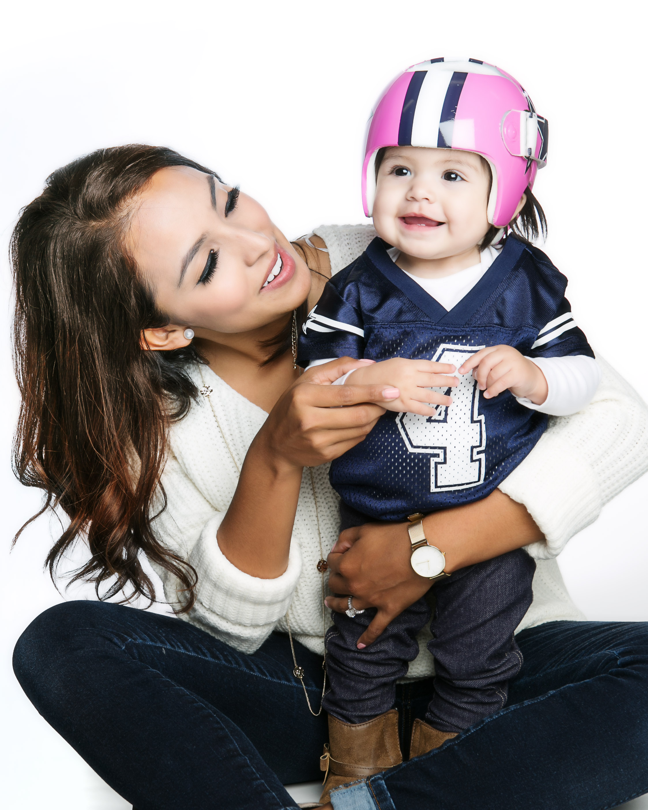
[[[488,169],[474,152],[392,147],[378,169],[378,236],[422,259],[463,254],[488,228]]]

